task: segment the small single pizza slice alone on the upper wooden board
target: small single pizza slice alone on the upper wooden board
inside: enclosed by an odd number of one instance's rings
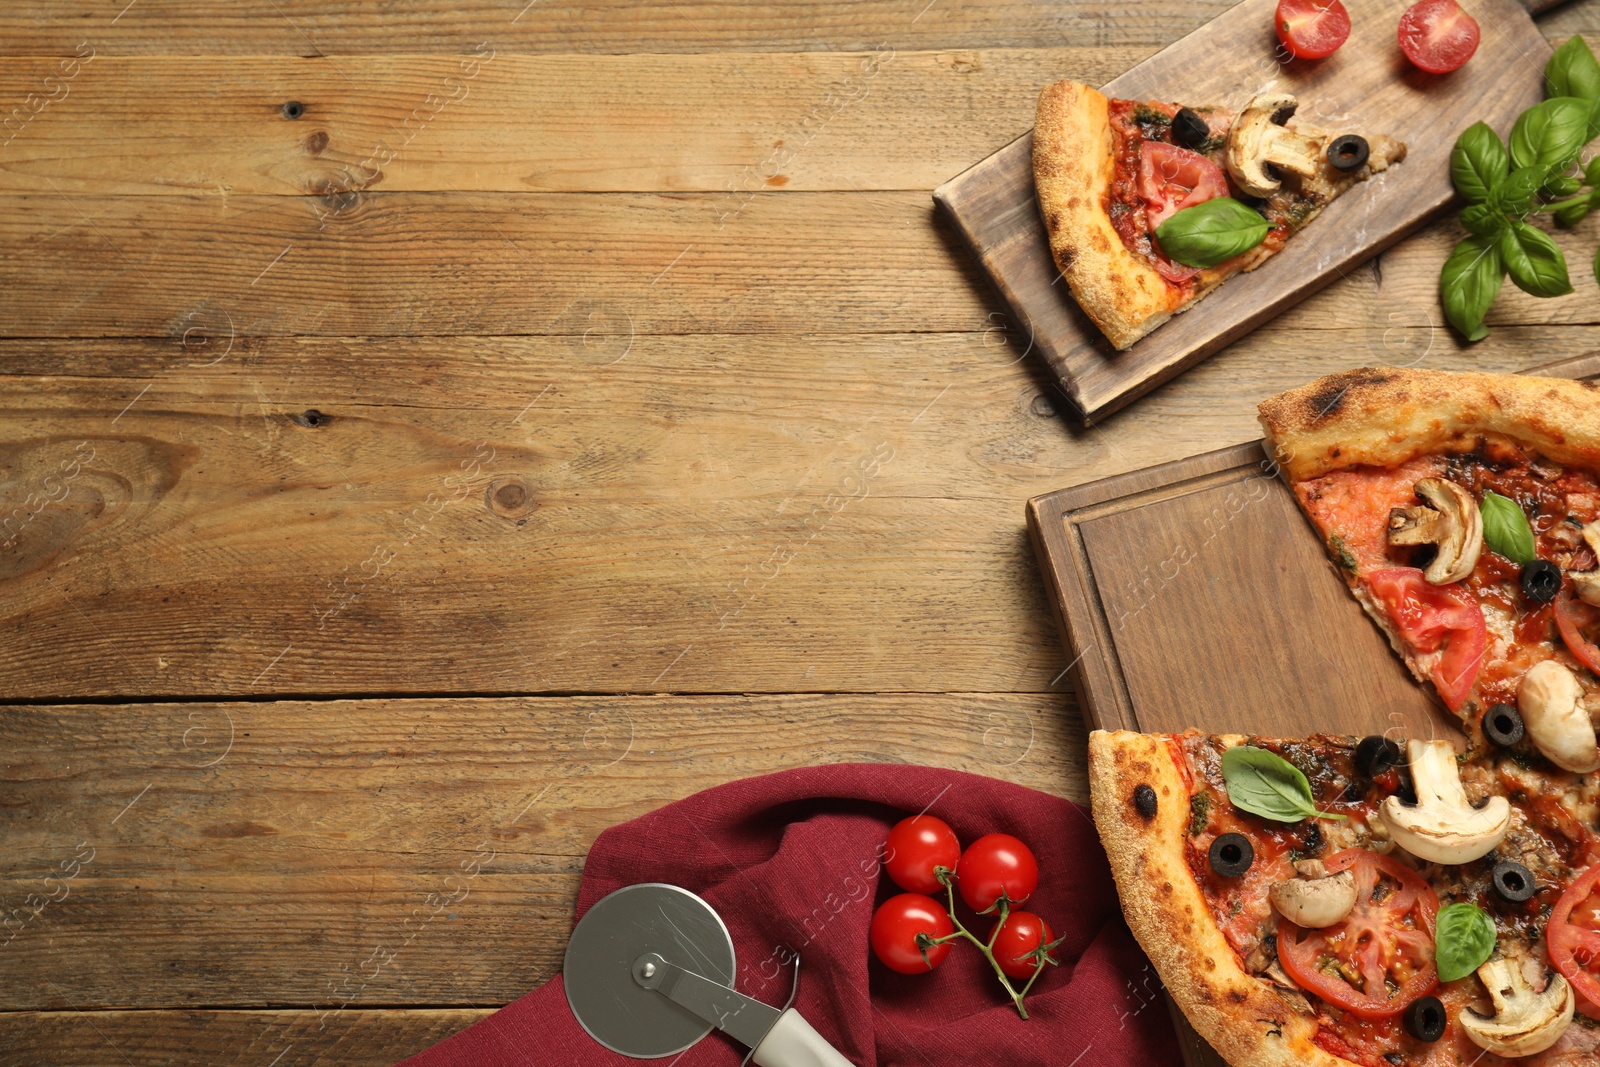
[[[1112,346],[1254,270],[1352,184],[1405,158],[1392,138],[1318,130],[1291,120],[1294,109],[1283,93],[1237,112],[1107,99],[1070,80],[1040,93],[1034,184],[1050,251]],[[1266,219],[1259,243],[1198,267],[1162,251],[1157,227],[1221,197]]]

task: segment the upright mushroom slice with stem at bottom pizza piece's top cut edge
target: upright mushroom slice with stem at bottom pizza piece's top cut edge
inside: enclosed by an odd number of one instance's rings
[[[1510,803],[1490,797],[1486,805],[1474,808],[1448,741],[1411,741],[1406,758],[1416,803],[1389,797],[1378,809],[1395,845],[1432,864],[1466,864],[1506,840]]]

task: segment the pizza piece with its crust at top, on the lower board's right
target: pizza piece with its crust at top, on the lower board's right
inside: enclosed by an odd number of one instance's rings
[[[1494,745],[1600,769],[1600,392],[1363,368],[1261,405],[1334,566],[1419,681]]]

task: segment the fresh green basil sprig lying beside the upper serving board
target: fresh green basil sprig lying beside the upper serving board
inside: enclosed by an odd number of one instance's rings
[[[1467,341],[1490,336],[1483,320],[1507,277],[1533,296],[1573,291],[1566,256],[1530,218],[1554,214],[1558,226],[1573,227],[1600,208],[1600,155],[1578,166],[1584,146],[1600,138],[1600,61],[1582,37],[1555,50],[1544,85],[1547,99],[1517,118],[1509,147],[1478,122],[1450,154],[1450,181],[1467,198],[1461,226],[1470,237],[1445,261],[1438,293],[1445,318]]]

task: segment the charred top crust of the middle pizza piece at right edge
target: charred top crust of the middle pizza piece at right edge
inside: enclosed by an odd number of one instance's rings
[[[1267,446],[1291,482],[1509,438],[1600,469],[1600,384],[1526,374],[1363,366],[1261,405]]]

